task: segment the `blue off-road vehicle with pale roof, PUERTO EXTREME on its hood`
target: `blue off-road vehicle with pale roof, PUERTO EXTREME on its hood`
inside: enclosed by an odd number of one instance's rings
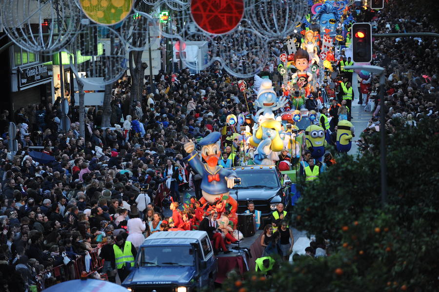
[[[205,231],[157,232],[140,246],[122,286],[131,292],[189,292],[214,288],[217,258]]]

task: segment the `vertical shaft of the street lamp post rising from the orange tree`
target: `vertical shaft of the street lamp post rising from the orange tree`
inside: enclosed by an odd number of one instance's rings
[[[380,164],[381,164],[381,203],[382,205],[387,204],[387,165],[386,165],[386,127],[385,127],[385,113],[384,113],[384,84],[385,77],[384,71],[381,72],[379,76],[379,135],[380,144],[379,151]]]

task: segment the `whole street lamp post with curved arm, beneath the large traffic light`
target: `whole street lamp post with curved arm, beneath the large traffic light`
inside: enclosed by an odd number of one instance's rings
[[[387,164],[386,164],[386,129],[385,129],[385,114],[384,114],[384,68],[372,65],[354,65],[346,66],[346,70],[365,70],[379,75],[379,152],[381,164],[381,204],[387,204]]]

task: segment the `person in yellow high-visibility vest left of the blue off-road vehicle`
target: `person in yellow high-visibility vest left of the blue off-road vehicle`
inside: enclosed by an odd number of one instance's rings
[[[130,267],[134,267],[136,248],[122,235],[116,236],[116,243],[113,245],[114,258],[120,282],[123,282],[130,273]]]

